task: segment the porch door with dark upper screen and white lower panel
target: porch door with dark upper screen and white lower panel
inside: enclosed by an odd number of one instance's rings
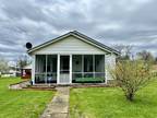
[[[60,56],[60,84],[70,83],[70,56]]]

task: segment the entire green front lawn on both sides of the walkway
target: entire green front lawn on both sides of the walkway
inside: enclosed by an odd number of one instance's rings
[[[0,118],[38,118],[55,92],[10,91],[20,79],[0,79]],[[71,118],[155,118],[157,81],[141,90],[129,102],[119,87],[71,88]]]

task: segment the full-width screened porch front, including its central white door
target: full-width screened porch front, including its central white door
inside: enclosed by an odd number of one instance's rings
[[[35,60],[35,83],[105,82],[105,55],[36,55]]]

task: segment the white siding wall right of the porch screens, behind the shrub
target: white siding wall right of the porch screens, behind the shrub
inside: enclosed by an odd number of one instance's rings
[[[106,66],[106,79],[112,80],[112,76],[111,76],[109,70],[116,68],[116,56],[114,55],[106,55],[105,66]]]

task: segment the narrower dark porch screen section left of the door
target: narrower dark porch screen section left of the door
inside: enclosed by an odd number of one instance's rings
[[[57,83],[57,55],[36,55],[35,83]]]

